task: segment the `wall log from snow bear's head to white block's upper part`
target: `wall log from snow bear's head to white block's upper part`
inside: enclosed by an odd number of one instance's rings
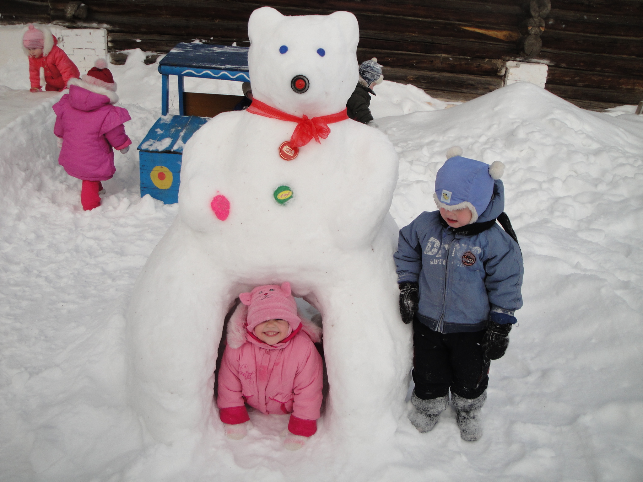
[[[502,75],[505,62],[489,58],[455,57],[448,55],[426,55],[407,52],[358,49],[358,61],[377,58],[379,64],[398,69],[412,69],[431,72],[450,72],[467,75]],[[501,72],[499,74],[499,72]]]

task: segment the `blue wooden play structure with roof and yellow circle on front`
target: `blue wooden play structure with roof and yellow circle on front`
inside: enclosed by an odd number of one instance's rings
[[[165,204],[178,202],[183,146],[208,117],[185,115],[184,77],[250,82],[248,48],[224,45],[177,44],[159,62],[163,76],[161,114],[138,146],[141,197],[146,194]],[[169,76],[176,75],[179,114],[168,114]]]

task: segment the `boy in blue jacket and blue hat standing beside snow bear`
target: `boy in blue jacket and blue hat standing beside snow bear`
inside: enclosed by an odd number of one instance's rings
[[[482,436],[489,360],[505,354],[522,306],[523,263],[503,213],[504,165],[460,154],[449,149],[435,179],[439,211],[400,230],[395,264],[402,320],[413,322],[409,418],[421,433],[433,429],[450,389],[460,435],[472,442]]]

